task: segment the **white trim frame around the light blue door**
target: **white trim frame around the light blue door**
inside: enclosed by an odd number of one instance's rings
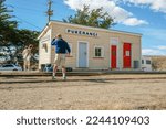
[[[86,43],[87,45],[87,49],[86,49],[86,52],[87,52],[87,56],[86,56],[86,67],[89,67],[89,42],[87,41],[77,41],[77,57],[76,57],[76,67],[79,67],[79,45],[80,43]]]

